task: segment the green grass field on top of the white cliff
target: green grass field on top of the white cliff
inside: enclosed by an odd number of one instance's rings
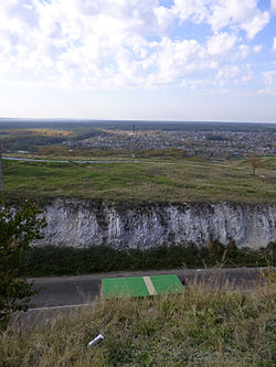
[[[117,158],[118,159],[118,158]],[[104,158],[108,160],[108,158]],[[76,164],[3,161],[6,193],[136,202],[275,202],[276,158],[252,176],[246,161],[141,159],[139,163]],[[264,175],[264,181],[259,177]]]

